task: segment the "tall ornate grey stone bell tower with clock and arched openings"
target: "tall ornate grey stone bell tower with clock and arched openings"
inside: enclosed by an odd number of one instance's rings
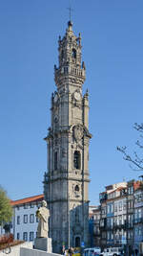
[[[80,246],[89,239],[89,99],[83,96],[86,68],[81,62],[81,35],[72,32],[58,40],[57,90],[51,95],[51,128],[45,138],[48,173],[44,194],[50,208],[50,234],[54,252],[63,244]]]

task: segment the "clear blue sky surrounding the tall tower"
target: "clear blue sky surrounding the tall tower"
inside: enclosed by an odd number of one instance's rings
[[[106,185],[141,175],[116,146],[134,150],[133,123],[143,109],[143,1],[72,0],[73,31],[82,35],[90,92],[91,184],[98,202]],[[58,35],[69,20],[66,0],[0,1],[0,184],[11,199],[43,193],[56,89]]]

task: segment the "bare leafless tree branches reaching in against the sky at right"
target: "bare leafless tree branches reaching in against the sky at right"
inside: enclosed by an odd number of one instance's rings
[[[133,155],[130,155],[127,151],[127,147],[117,147],[117,151],[123,153],[124,160],[131,162],[130,167],[133,171],[143,171],[143,123],[138,125],[134,124],[133,128],[139,132],[139,140],[135,142],[137,151],[133,151]]]

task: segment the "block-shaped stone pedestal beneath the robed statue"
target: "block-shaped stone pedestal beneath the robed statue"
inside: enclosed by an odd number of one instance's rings
[[[35,238],[34,249],[52,252],[51,238]]]

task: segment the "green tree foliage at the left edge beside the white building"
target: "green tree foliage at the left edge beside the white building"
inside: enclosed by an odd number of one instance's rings
[[[7,192],[0,187],[0,225],[11,221],[11,217],[12,207],[10,205],[10,198],[8,198]]]

